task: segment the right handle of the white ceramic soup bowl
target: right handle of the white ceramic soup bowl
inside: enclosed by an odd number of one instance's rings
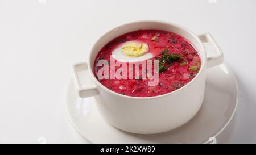
[[[203,35],[200,35],[199,38],[201,41],[203,41],[203,43],[208,43],[209,45],[211,45],[214,48],[214,52],[216,53],[215,56],[207,57],[207,68],[222,64],[222,62],[224,61],[223,53],[216,41],[213,39],[212,35],[207,32]]]

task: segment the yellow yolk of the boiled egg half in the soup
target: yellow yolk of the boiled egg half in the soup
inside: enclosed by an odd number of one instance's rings
[[[131,41],[122,46],[122,52],[129,57],[139,57],[148,52],[148,45],[137,41]]]

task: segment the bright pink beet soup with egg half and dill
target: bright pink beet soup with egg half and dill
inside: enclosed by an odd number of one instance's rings
[[[114,62],[127,62],[125,67],[128,72],[133,73],[135,71],[128,67],[129,63],[158,60],[157,84],[148,85],[151,79],[141,78],[143,72],[147,73],[142,66],[139,66],[137,79],[129,79],[128,73],[125,74],[127,79],[99,79],[97,73],[102,66],[97,66],[97,63],[106,60],[110,64],[110,58],[115,58]],[[152,73],[154,66],[153,62]],[[118,36],[102,47],[94,62],[94,74],[102,85],[116,93],[133,97],[152,97],[183,87],[196,76],[200,66],[197,51],[184,37],[162,30],[138,30]],[[108,67],[110,69],[110,65]],[[114,70],[119,68],[115,66]],[[102,75],[104,74],[103,72]]]

